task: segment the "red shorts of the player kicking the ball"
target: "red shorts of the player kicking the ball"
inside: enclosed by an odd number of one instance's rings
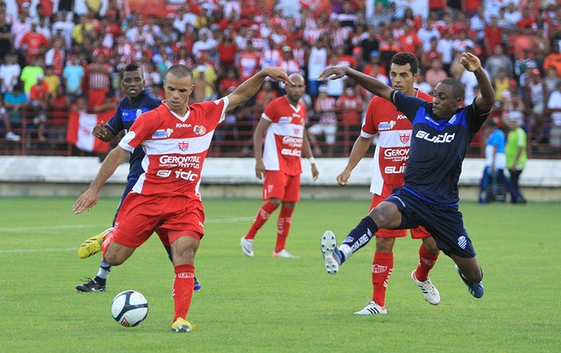
[[[180,236],[201,240],[204,235],[201,200],[183,196],[145,196],[129,193],[120,206],[113,241],[138,248],[157,230],[164,245]]]

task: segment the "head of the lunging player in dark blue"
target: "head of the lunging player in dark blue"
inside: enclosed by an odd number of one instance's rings
[[[449,119],[460,107],[465,96],[465,90],[460,81],[444,79],[436,85],[433,95],[434,118]]]

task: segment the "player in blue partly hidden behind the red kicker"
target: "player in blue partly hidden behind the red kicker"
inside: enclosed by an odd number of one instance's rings
[[[115,115],[113,115],[113,118],[109,119],[107,124],[103,124],[103,122],[101,122],[101,124],[96,126],[92,131],[93,136],[106,142],[109,142],[119,135],[119,132],[123,130],[128,131],[128,129],[132,126],[132,123],[135,122],[135,119],[137,119],[138,115],[159,107],[162,102],[154,97],[148,90],[145,90],[142,69],[137,65],[129,64],[125,67],[121,80],[121,86],[127,96],[119,102]],[[144,169],[142,168],[143,158],[144,150],[142,150],[142,148],[135,149],[130,155],[127,186],[125,187],[125,191],[121,197],[121,203],[125,199],[125,196],[128,195],[132,187],[137,183],[138,176],[144,173]],[[119,212],[119,207],[117,208],[117,212]],[[115,217],[117,217],[117,212],[115,213]],[[115,219],[113,219],[113,225],[114,224]],[[95,235],[82,243],[80,249],[78,249],[78,256],[82,259],[89,257],[92,253],[88,250],[88,244],[94,242],[94,238],[97,238],[100,235],[102,236],[110,230],[112,230],[112,228],[109,228],[103,233]],[[164,244],[164,246],[166,247],[166,252],[171,260],[170,247],[166,244]],[[109,278],[110,271],[111,266],[108,263],[101,261],[100,270],[98,271],[96,277],[86,283],[77,285],[76,289],[78,291],[105,291],[105,285],[107,279]],[[198,291],[200,288],[201,286],[195,278],[195,291]]]

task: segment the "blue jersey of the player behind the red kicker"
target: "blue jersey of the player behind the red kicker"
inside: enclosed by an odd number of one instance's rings
[[[131,103],[128,97],[125,97],[119,102],[115,115],[105,124],[105,127],[109,129],[113,135],[119,134],[122,130],[128,132],[128,129],[130,129],[132,123],[135,122],[138,115],[159,107],[161,102],[161,100],[154,97],[148,90],[142,91],[138,96],[138,100],[134,103]],[[138,180],[138,176],[144,173],[144,169],[142,168],[143,158],[144,150],[142,148],[135,148],[130,155],[128,180],[136,181]]]

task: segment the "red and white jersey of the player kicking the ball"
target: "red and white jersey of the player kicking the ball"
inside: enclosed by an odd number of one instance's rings
[[[163,101],[157,109],[139,115],[119,142],[120,148],[132,152],[141,146],[146,153],[142,160],[146,172],[132,192],[200,199],[204,157],[228,103],[227,97],[195,103],[180,117]]]

